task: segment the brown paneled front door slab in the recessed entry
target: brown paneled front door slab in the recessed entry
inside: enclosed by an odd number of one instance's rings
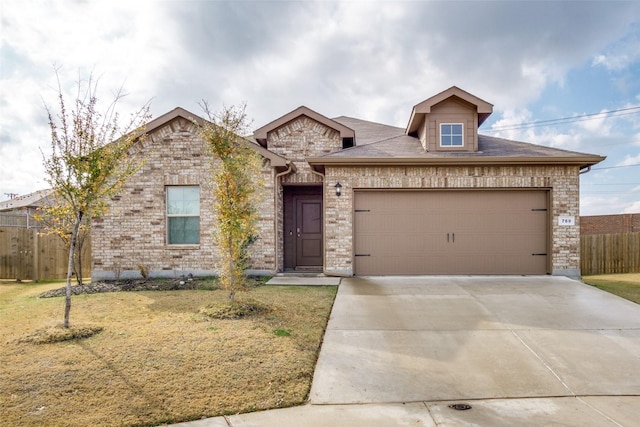
[[[296,197],[296,268],[322,265],[322,199]]]

